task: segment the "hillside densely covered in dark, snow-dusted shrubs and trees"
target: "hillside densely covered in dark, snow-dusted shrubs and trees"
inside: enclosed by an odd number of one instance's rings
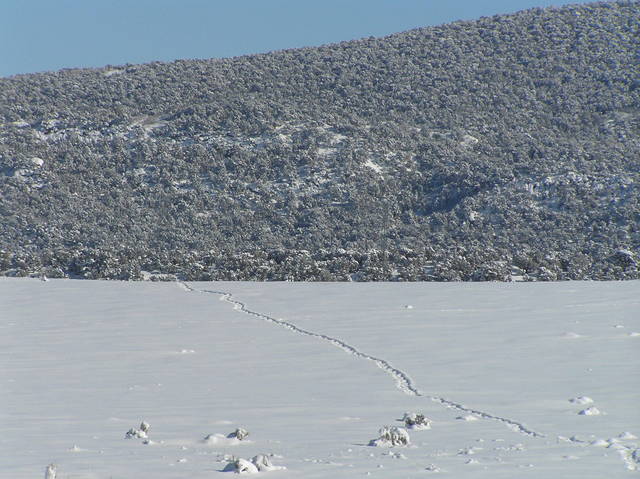
[[[640,277],[640,3],[0,79],[0,272]]]

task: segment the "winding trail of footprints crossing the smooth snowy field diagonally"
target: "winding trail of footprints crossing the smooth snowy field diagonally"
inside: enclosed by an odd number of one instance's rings
[[[445,399],[442,397],[438,397],[438,396],[431,396],[428,394],[424,394],[423,392],[421,392],[417,386],[414,384],[413,380],[411,379],[411,377],[405,373],[404,371],[401,371],[400,369],[394,367],[391,365],[391,363],[389,363],[389,361],[382,359],[382,358],[378,358],[375,356],[371,356],[369,354],[366,354],[360,350],[358,350],[356,347],[342,341],[341,339],[338,338],[334,338],[331,336],[327,336],[325,334],[321,334],[321,333],[316,333],[313,331],[308,331],[306,329],[300,328],[298,326],[296,326],[293,323],[290,323],[288,321],[285,321],[283,319],[278,319],[278,318],[274,318],[273,316],[269,316],[267,314],[264,313],[260,313],[257,311],[253,311],[249,308],[247,308],[246,304],[243,303],[242,301],[238,301],[237,299],[233,298],[233,294],[227,292],[227,291],[216,291],[216,290],[208,290],[208,289],[197,289],[194,288],[192,286],[189,286],[187,283],[184,282],[179,282],[178,283],[184,290],[186,291],[190,291],[190,292],[195,292],[195,293],[205,293],[205,294],[215,294],[220,296],[220,300],[225,301],[227,303],[230,303],[233,305],[234,309],[247,314],[249,316],[253,316],[257,319],[260,319],[262,321],[267,321],[270,323],[274,323],[277,324],[280,327],[289,329],[290,331],[293,331],[294,333],[297,334],[302,334],[305,336],[311,336],[314,338],[318,338],[321,339],[323,341],[329,342],[331,344],[333,344],[334,346],[342,349],[343,351],[352,354],[358,358],[361,359],[366,359],[368,361],[371,361],[373,363],[375,363],[380,369],[382,369],[384,372],[386,372],[388,375],[390,375],[395,383],[396,383],[396,387],[402,391],[404,394],[407,394],[409,396],[415,396],[415,397],[425,397],[427,399],[430,399],[431,401],[434,401],[436,403],[442,404],[443,406],[450,408],[450,409],[455,409],[457,411],[461,411],[467,414],[473,414],[474,416],[477,416],[481,419],[487,419],[487,420],[494,420],[494,421],[498,421],[498,422],[502,422],[505,425],[507,425],[510,429],[519,432],[521,434],[527,435],[527,436],[531,436],[531,437],[538,437],[538,438],[542,438],[545,437],[543,434],[538,433],[536,431],[533,431],[529,428],[527,428],[524,424],[519,423],[517,421],[514,421],[512,419],[508,419],[505,417],[501,417],[501,416],[496,416],[493,414],[489,414],[487,412],[484,411],[480,411],[477,409],[471,409],[468,408],[462,404],[456,403],[454,401],[451,401],[449,399]]]

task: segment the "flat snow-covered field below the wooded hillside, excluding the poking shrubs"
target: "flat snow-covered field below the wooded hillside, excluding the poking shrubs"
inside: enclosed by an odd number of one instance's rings
[[[0,477],[636,477],[639,370],[639,282],[3,278]]]

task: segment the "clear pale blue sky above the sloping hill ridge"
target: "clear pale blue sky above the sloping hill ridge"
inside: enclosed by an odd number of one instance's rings
[[[0,76],[220,58],[581,0],[0,0]]]

